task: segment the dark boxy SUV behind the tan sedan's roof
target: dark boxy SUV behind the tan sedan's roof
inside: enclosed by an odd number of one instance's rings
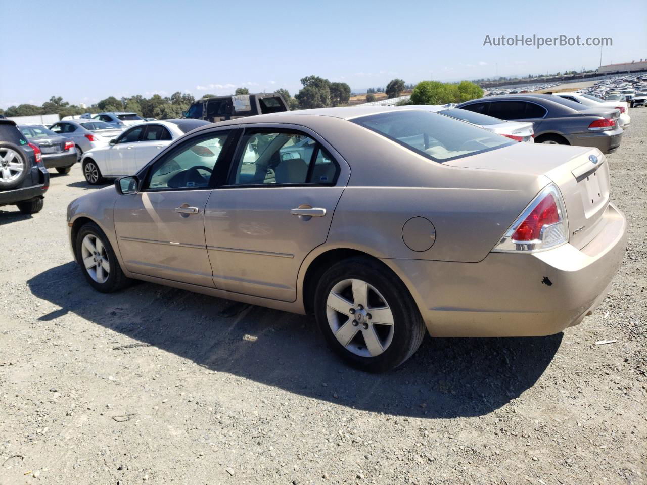
[[[254,114],[289,111],[283,96],[277,92],[261,92],[243,96],[215,96],[193,102],[184,118],[195,118],[208,122],[219,122],[254,116]]]

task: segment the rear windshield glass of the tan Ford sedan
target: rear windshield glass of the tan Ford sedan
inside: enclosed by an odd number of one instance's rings
[[[351,121],[435,162],[516,143],[483,128],[429,111],[393,111],[361,116]]]

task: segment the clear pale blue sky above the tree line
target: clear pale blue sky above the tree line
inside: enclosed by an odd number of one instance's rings
[[[90,104],[243,86],[294,94],[310,74],[360,90],[395,77],[494,76],[497,64],[499,75],[509,76],[600,61],[598,47],[484,47],[486,35],[611,37],[602,63],[647,58],[644,0],[0,0],[0,18],[3,108],[50,96]]]

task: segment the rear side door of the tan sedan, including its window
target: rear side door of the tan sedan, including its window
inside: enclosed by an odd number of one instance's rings
[[[299,268],[325,242],[349,175],[341,156],[303,127],[245,129],[204,213],[215,287],[294,301]]]

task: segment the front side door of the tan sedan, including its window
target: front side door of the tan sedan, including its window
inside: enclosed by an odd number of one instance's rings
[[[196,135],[142,170],[138,193],[115,204],[115,231],[127,270],[214,287],[204,238],[204,208],[226,163],[229,131]]]

